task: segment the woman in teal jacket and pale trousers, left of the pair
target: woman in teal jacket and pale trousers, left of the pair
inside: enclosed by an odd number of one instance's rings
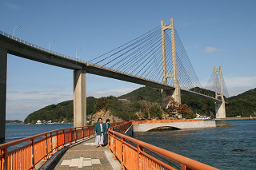
[[[98,123],[94,126],[94,131],[96,132],[95,144],[97,144],[96,148],[102,146],[104,133],[106,133],[106,127],[102,123],[102,118],[98,118]]]

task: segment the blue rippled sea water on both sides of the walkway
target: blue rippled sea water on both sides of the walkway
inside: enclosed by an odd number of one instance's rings
[[[198,160],[220,169],[256,169],[256,120],[216,121],[217,124],[241,125],[162,132],[138,132],[138,140],[165,148],[182,156]],[[6,125],[6,140],[18,140],[59,128],[61,125]],[[246,152],[234,152],[246,148]]]

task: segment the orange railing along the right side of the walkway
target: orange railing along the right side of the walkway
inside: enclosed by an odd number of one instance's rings
[[[124,132],[132,124],[128,122],[109,130],[109,148],[123,169],[217,169],[116,132],[117,129]]]

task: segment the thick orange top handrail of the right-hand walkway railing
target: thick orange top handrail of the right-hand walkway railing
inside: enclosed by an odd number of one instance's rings
[[[113,127],[113,128],[115,128],[115,127]],[[188,168],[202,169],[202,170],[206,170],[206,169],[207,170],[208,169],[209,170],[218,170],[218,168],[214,168],[214,167],[212,167],[210,165],[203,164],[201,162],[198,162],[196,160],[192,160],[192,159],[187,158],[185,156],[178,155],[177,153],[167,151],[167,150],[165,150],[163,148],[159,148],[159,147],[154,146],[152,144],[147,144],[146,142],[134,139],[133,137],[130,137],[130,136],[126,136],[126,135],[124,135],[124,134],[122,134],[120,132],[115,132],[114,130],[111,130],[111,129],[109,130],[109,132],[113,133],[114,135],[119,136],[119,137],[121,137],[123,139],[130,140],[134,144],[138,144],[139,146],[141,146],[143,148],[146,148],[146,149],[148,149],[150,151],[153,151],[155,153],[158,153],[159,155],[165,156],[166,158],[168,158],[170,160],[174,160],[178,164],[184,164]]]

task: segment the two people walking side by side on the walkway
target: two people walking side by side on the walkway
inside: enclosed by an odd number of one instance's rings
[[[109,141],[109,132],[110,120],[107,119],[106,123],[102,123],[102,118],[98,118],[98,123],[94,126],[94,131],[97,133],[95,143],[97,144],[96,148],[102,145],[108,144]]]

